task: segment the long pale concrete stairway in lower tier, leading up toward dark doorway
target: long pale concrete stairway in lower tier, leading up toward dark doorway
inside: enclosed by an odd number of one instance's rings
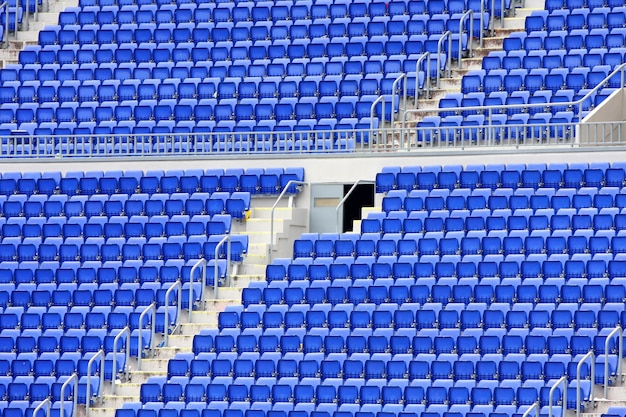
[[[293,240],[305,231],[307,226],[308,210],[294,208],[295,197],[284,200],[274,213],[274,253],[287,254],[291,257]],[[275,197],[254,198],[251,216],[243,222],[233,222],[232,234],[247,234],[249,236],[248,254],[239,265],[231,269],[230,286],[220,287],[215,296],[212,287],[207,287],[204,292],[204,310],[192,312],[191,322],[189,311],[183,310],[180,317],[180,325],[176,334],[168,338],[168,346],[154,349],[152,357],[141,361],[141,369],[138,369],[137,359],[130,360],[130,375],[127,381],[118,381],[115,385],[115,393],[112,392],[110,382],[106,382],[103,388],[102,402],[90,408],[91,417],[114,417],[115,411],[126,403],[138,402],[141,384],[151,376],[165,376],[167,363],[177,353],[192,352],[194,335],[202,329],[217,328],[218,315],[228,305],[241,303],[241,291],[252,281],[265,279],[265,267],[269,262],[269,238],[271,229],[271,207]],[[162,342],[161,335],[157,335],[154,346]],[[79,405],[75,417],[85,416],[84,405]]]

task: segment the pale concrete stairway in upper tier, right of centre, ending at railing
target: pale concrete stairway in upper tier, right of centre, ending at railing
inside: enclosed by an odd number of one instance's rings
[[[499,0],[496,0],[499,1]],[[458,62],[453,59],[452,61],[452,77],[441,78],[439,88],[436,87],[436,81],[431,80],[430,97],[422,96],[417,105],[419,109],[423,110],[435,110],[439,107],[439,100],[448,93],[460,93],[461,92],[461,78],[469,71],[481,69],[483,58],[489,55],[492,51],[502,50],[504,39],[512,32],[524,30],[524,24],[526,17],[530,16],[535,10],[543,10],[545,8],[545,0],[523,0],[522,7],[516,7],[515,15],[507,16],[504,19],[504,25],[500,20],[496,20],[493,35],[486,34],[483,42],[483,47],[479,45],[478,39],[474,39],[474,51],[473,56],[465,57],[462,59],[462,67],[458,68]],[[503,27],[502,27],[503,26]],[[400,104],[399,116],[396,116],[395,125],[401,127],[402,114],[405,110],[415,108],[415,100],[413,97],[408,97],[406,103]],[[420,113],[409,114],[407,120],[409,123],[419,122],[425,116],[432,116],[436,113]]]

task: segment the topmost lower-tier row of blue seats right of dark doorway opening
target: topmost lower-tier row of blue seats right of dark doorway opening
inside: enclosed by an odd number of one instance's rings
[[[500,188],[581,188],[581,187],[622,187],[626,179],[624,168],[596,168],[585,169],[507,169],[501,172],[494,170],[484,171],[454,171],[443,172],[400,172],[388,171],[376,175],[379,193],[392,189],[433,190],[435,188],[488,188],[492,192]],[[487,198],[488,195],[485,197]],[[530,195],[528,196],[530,198]]]

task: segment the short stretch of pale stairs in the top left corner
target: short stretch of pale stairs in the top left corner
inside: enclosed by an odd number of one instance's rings
[[[29,1],[35,2],[37,0]],[[24,47],[39,44],[39,31],[46,26],[58,24],[59,13],[67,7],[76,6],[78,6],[78,0],[43,0],[43,5],[40,6],[37,13],[37,19],[33,14],[24,13],[21,30],[17,34],[9,32],[8,47],[0,49],[0,68],[17,64],[19,53]]]

